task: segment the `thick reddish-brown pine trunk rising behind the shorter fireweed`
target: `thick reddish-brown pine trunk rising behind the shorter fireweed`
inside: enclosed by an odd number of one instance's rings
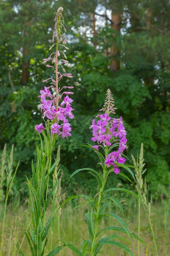
[[[111,28],[120,32],[120,13],[117,13],[116,15],[112,14],[111,19],[112,19]],[[115,37],[115,36],[116,35],[113,33],[113,37]],[[110,70],[112,72],[116,72],[120,68],[119,61],[116,58],[117,55],[119,55],[119,49],[117,47],[115,47],[115,44],[113,43],[111,46],[111,57],[113,59],[111,61],[111,65],[110,65]]]

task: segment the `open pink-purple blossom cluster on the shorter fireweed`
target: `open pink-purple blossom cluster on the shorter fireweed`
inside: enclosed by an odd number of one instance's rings
[[[91,140],[97,141],[98,144],[103,144],[104,147],[112,147],[113,144],[119,146],[117,151],[113,151],[107,155],[105,164],[110,167],[114,167],[114,172],[118,174],[119,168],[116,167],[115,162],[125,163],[125,157],[122,157],[122,152],[127,148],[126,146],[126,131],[122,122],[122,116],[119,119],[111,118],[108,113],[98,115],[99,120],[95,123],[95,119],[92,121],[90,128],[93,129],[93,137]],[[99,145],[95,145],[94,148],[99,150]]]

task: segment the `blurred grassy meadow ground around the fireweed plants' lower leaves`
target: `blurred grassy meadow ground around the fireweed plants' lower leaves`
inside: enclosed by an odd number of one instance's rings
[[[75,202],[74,202],[75,203]],[[77,202],[78,203],[78,202]],[[151,220],[153,223],[153,229],[156,236],[156,243],[158,246],[158,252],[160,256],[169,256],[170,255],[170,243],[169,243],[169,235],[170,235],[170,225],[168,218],[168,201],[161,201],[160,203],[153,204]],[[137,213],[137,201],[125,201],[124,202],[125,209],[125,217],[122,216],[119,209],[112,208],[108,209],[108,212],[113,212],[118,214],[127,224],[127,227],[131,232],[138,233],[138,213]],[[0,209],[1,213],[3,212],[3,208]],[[70,241],[74,246],[80,248],[80,244],[82,239],[89,239],[88,230],[85,221],[84,213],[88,211],[88,206],[84,205],[73,210],[73,203],[68,204],[67,206],[62,208],[62,212],[60,215],[60,236],[64,241]],[[48,212],[50,214],[50,211]],[[2,216],[2,215],[1,215]],[[48,217],[48,216],[47,216]],[[15,240],[17,240],[17,244],[20,246],[23,241],[23,232],[21,230],[19,219],[23,221],[26,226],[29,225],[30,221],[30,213],[28,211],[28,206],[13,204],[8,206],[8,213],[6,215],[6,226],[5,226],[5,241],[3,246],[3,256],[16,256],[17,250],[15,248]],[[2,218],[0,218],[0,227],[2,226]],[[31,225],[30,225],[31,226]],[[113,218],[103,219],[100,224],[100,229],[108,227],[108,226],[119,226],[116,220]],[[102,233],[102,236],[108,236],[116,234],[114,231],[106,231],[107,233]],[[55,230],[53,236],[53,243],[55,247],[55,243],[58,240],[58,224],[57,224],[57,216],[55,218]],[[120,235],[120,233],[119,233]],[[50,234],[51,236],[51,234]],[[51,239],[48,239],[48,247],[45,253],[50,251]],[[124,238],[128,237],[121,233],[121,236]],[[146,244],[149,244],[149,247],[154,250],[153,238],[150,232],[150,226],[147,220],[144,211],[141,214],[141,238],[145,241]],[[130,244],[125,244],[132,250],[134,256],[137,256],[137,240],[133,239],[133,246]],[[58,246],[58,244],[57,244]],[[56,247],[57,247],[56,246]],[[26,243],[26,239],[23,241],[22,251],[26,256],[31,256],[29,253],[28,245]],[[47,255],[47,254],[45,254]],[[59,253],[57,254],[59,255]],[[75,254],[69,250],[68,248],[63,248],[61,250],[60,256],[74,256]],[[123,250],[120,250],[118,247],[113,246],[103,246],[102,250],[100,250],[99,256],[126,256]],[[140,256],[155,256],[156,254],[151,250],[148,250],[146,246],[140,244]],[[87,256],[89,253],[87,252]]]

